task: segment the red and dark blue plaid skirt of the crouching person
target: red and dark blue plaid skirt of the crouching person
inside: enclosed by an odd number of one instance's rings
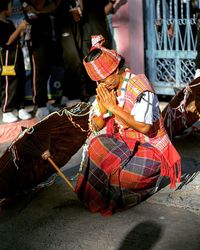
[[[112,215],[150,195],[160,165],[160,152],[149,143],[99,135],[89,144],[75,192],[91,212]]]

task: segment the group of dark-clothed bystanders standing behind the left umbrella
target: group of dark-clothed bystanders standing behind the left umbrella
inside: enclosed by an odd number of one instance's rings
[[[20,2],[22,19],[12,21],[12,10]],[[3,122],[30,119],[25,109],[28,68],[32,102],[39,120],[50,112],[48,83],[56,72],[62,75],[63,105],[87,101],[95,94],[82,61],[91,49],[91,36],[103,35],[112,47],[107,15],[116,0],[0,0],[1,107]],[[15,24],[15,25],[14,25]],[[22,53],[23,52],[23,53]],[[14,60],[16,55],[16,61]],[[24,60],[23,60],[24,55]],[[15,65],[15,74],[2,74],[3,66]],[[5,67],[4,67],[5,68]],[[18,110],[18,116],[13,111]]]

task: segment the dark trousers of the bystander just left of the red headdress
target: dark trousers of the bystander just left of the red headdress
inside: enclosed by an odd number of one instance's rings
[[[63,95],[69,99],[85,101],[93,93],[91,80],[83,65],[82,23],[63,23],[61,30],[61,45],[64,67]],[[94,92],[94,91],[93,91]]]

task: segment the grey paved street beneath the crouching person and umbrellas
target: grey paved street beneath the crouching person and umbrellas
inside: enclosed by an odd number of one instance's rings
[[[199,250],[200,132],[176,137],[174,144],[183,163],[176,190],[163,179],[162,188],[138,206],[102,217],[85,209],[57,177],[1,211],[0,250]],[[79,168],[81,153],[62,168],[69,178]]]

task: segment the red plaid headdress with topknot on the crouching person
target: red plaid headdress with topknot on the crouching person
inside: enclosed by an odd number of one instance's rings
[[[104,41],[105,39],[102,35],[92,36],[92,48],[90,51],[99,48],[102,54],[90,62],[83,60],[86,71],[93,81],[100,81],[111,75],[117,69],[122,59],[115,50],[103,47]]]

